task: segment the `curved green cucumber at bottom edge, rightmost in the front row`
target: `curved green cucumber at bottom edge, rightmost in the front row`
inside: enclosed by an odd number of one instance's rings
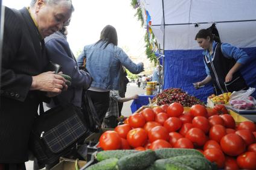
[[[165,169],[165,165],[171,163],[180,163],[185,166],[189,166],[195,170],[211,170],[212,164],[205,157],[197,155],[188,155],[188,156],[176,156],[169,159],[159,159],[154,162],[156,169]]]

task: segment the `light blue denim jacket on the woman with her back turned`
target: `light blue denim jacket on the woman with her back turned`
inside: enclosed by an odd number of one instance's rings
[[[133,74],[139,74],[143,71],[143,64],[133,63],[123,49],[112,43],[106,48],[104,46],[104,42],[85,46],[77,64],[82,66],[86,58],[86,69],[93,78],[91,87],[119,90],[122,65]]]

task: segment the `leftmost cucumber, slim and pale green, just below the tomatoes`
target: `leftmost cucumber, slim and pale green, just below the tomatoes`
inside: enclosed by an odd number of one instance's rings
[[[96,159],[98,161],[109,159],[109,158],[117,158],[120,159],[123,156],[128,156],[130,154],[138,153],[136,150],[111,150],[111,151],[101,151],[97,153]]]

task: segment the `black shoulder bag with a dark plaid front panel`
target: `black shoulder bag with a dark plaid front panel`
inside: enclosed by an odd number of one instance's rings
[[[30,150],[40,164],[51,164],[70,154],[89,134],[81,110],[72,104],[60,105],[37,116]]]

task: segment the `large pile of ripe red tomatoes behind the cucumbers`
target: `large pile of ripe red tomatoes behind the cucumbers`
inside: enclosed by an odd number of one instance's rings
[[[223,105],[206,109],[196,104],[184,111],[177,102],[146,108],[103,133],[99,145],[103,150],[194,148],[220,169],[256,169],[255,124],[235,125],[225,113]]]

